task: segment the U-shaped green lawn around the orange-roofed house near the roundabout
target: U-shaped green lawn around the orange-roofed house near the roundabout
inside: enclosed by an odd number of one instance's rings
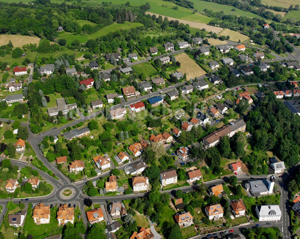
[[[31,204],[29,204],[31,206]],[[57,208],[53,207],[50,209],[50,223],[36,225],[35,221],[32,218],[33,209],[30,207],[27,211],[23,232],[27,232],[27,234],[33,235],[33,237],[37,237],[40,235],[44,235],[44,233],[48,234],[53,231],[53,229],[58,228],[58,221],[56,220],[56,212]]]

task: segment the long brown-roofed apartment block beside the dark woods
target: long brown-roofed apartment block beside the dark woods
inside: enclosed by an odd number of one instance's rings
[[[237,132],[245,132],[246,130],[246,123],[242,119],[237,119],[235,121],[230,122],[229,124],[223,126],[222,128],[215,130],[208,136],[202,138],[204,148],[214,147],[220,143],[220,138],[224,135],[229,136],[231,138]]]

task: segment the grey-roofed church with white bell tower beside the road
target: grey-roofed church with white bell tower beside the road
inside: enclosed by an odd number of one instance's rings
[[[244,184],[247,191],[253,195],[253,197],[260,197],[262,195],[273,194],[273,188],[275,184],[275,177],[271,176],[270,179],[250,179]]]

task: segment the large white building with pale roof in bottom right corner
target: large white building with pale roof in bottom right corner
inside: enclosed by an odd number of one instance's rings
[[[279,205],[257,205],[255,208],[259,221],[279,221],[281,210]]]

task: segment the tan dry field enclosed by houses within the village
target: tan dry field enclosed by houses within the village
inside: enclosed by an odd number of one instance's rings
[[[194,79],[195,77],[199,77],[204,75],[206,72],[198,66],[196,62],[193,61],[187,54],[181,53],[175,56],[176,60],[180,62],[180,68],[177,70],[178,72],[182,72],[183,74],[187,74],[187,80]]]

